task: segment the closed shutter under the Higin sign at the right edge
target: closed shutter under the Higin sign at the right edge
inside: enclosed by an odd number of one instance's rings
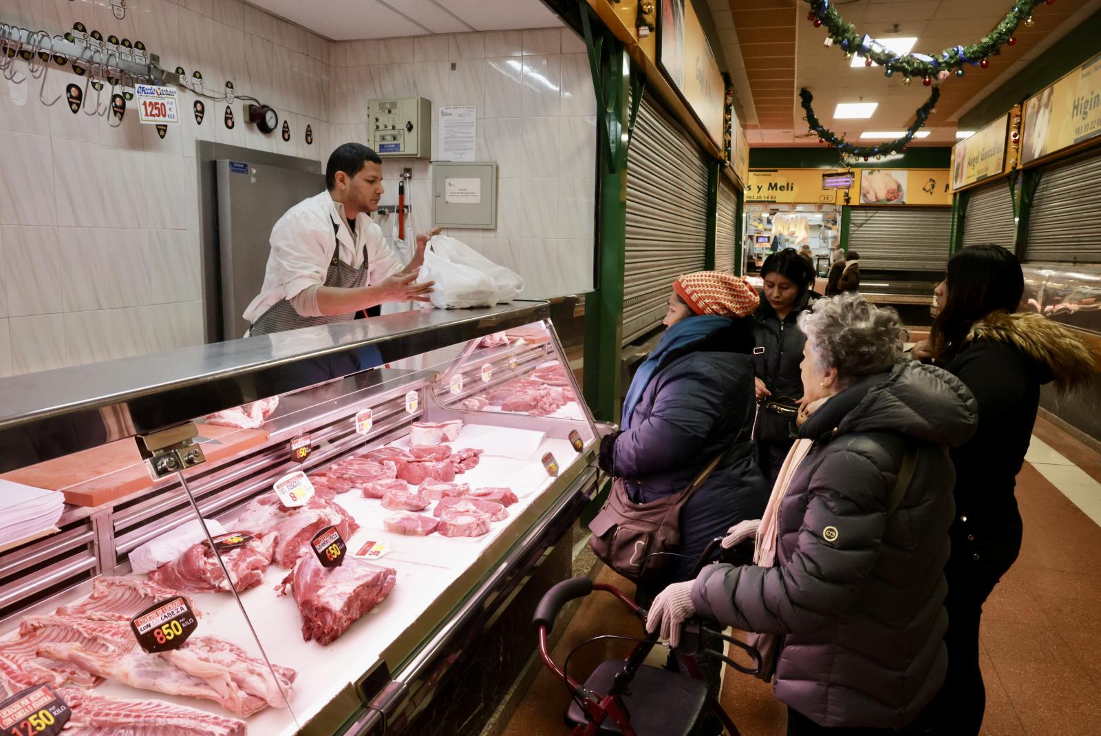
[[[1042,171],[1028,213],[1025,261],[1101,261],[1101,153]]]

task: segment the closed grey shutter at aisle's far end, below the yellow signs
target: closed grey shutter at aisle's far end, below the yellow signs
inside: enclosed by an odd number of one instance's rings
[[[853,207],[849,250],[862,271],[944,271],[951,227],[950,207]]]

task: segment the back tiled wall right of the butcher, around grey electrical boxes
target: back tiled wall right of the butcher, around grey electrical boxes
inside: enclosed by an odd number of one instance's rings
[[[334,141],[359,140],[371,97],[425,97],[434,113],[445,105],[477,106],[477,159],[499,166],[498,226],[448,234],[519,272],[524,296],[592,288],[596,97],[585,43],[574,31],[341,42],[331,61]],[[383,204],[396,203],[404,166],[384,164]],[[432,220],[430,165],[412,169],[406,198],[413,227],[423,231]],[[382,221],[388,236],[393,219]]]

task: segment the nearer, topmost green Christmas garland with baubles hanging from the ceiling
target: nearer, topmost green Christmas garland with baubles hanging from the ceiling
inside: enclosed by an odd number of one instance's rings
[[[871,65],[874,62],[885,67],[883,74],[889,77],[895,72],[901,72],[906,75],[906,84],[909,84],[912,77],[922,77],[923,83],[928,87],[933,84],[934,77],[948,78],[953,68],[956,76],[963,76],[964,64],[986,68],[990,64],[990,57],[996,55],[1003,45],[1012,46],[1017,42],[1013,37],[1013,32],[1022,22],[1026,28],[1033,24],[1033,8],[1040,2],[1050,6],[1055,0],[1016,0],[1005,18],[979,43],[946,48],[936,56],[913,53],[896,56],[894,52],[884,47],[870,35],[861,36],[857,33],[855,26],[852,23],[846,23],[841,13],[829,0],[807,0],[810,6],[807,20],[814,21],[815,28],[825,25],[826,30],[829,31],[826,45],[838,44],[846,52],[847,58],[852,54],[860,54],[866,64]]]

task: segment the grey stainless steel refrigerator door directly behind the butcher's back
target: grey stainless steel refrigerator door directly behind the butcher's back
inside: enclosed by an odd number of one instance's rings
[[[287,209],[325,190],[325,175],[248,161],[219,159],[218,240],[225,339],[244,336],[241,315],[260,293],[272,226]]]

